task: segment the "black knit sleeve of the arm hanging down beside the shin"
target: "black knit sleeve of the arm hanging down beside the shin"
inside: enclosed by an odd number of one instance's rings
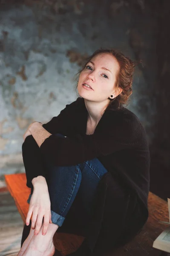
[[[70,112],[72,112],[72,108],[75,107],[77,102],[78,99],[71,104],[67,104],[66,108],[58,116],[53,117],[49,122],[43,124],[43,128],[51,134],[62,133],[65,136],[69,136],[72,125],[71,119],[69,118]],[[26,186],[32,189],[32,179],[34,177],[39,175],[46,176],[45,158],[32,135],[26,137],[22,145],[22,155],[27,179]]]

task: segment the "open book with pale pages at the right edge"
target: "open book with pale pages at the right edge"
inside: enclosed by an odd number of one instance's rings
[[[170,198],[167,199],[168,203],[168,212],[169,212],[169,221],[170,221]],[[159,221],[160,223],[167,224],[170,226],[170,222]],[[153,247],[159,250],[163,250],[167,253],[170,253],[170,227],[164,230],[157,239],[153,242]]]

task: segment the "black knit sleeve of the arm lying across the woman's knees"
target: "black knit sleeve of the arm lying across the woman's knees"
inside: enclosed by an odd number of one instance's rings
[[[141,125],[135,116],[121,115],[110,124],[109,116],[106,119],[105,115],[101,122],[103,123],[100,126],[104,128],[100,133],[76,134],[71,138],[51,135],[41,144],[40,150],[53,164],[71,166],[115,151],[140,146],[138,139]]]

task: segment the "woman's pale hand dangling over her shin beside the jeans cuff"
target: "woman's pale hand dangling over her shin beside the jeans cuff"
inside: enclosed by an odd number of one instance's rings
[[[42,234],[46,235],[51,221],[51,202],[49,198],[48,186],[43,182],[36,182],[29,204],[29,211],[26,216],[26,224],[29,225],[32,216],[32,229],[38,234],[43,222]],[[44,218],[44,220],[43,220]]]

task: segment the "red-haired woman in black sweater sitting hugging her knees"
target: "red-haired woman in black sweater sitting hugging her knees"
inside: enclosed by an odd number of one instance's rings
[[[26,223],[32,215],[37,236],[31,229],[18,256],[53,255],[56,231],[85,237],[69,255],[104,255],[147,221],[146,133],[124,108],[133,69],[121,52],[95,51],[79,75],[80,97],[47,124],[29,125],[22,146],[31,188]]]

